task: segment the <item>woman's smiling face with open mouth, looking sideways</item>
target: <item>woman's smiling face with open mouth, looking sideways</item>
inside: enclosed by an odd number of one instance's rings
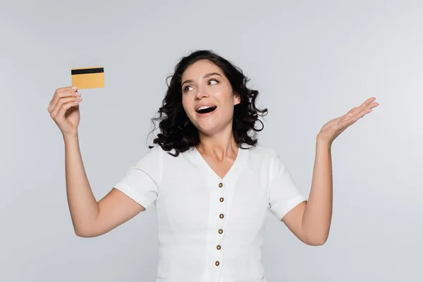
[[[202,133],[211,135],[232,127],[233,106],[240,103],[223,71],[210,61],[197,61],[182,75],[185,113]]]

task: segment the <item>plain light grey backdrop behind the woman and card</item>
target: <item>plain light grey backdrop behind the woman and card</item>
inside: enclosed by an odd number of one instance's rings
[[[154,206],[97,238],[73,233],[64,147],[47,106],[71,68],[97,200],[147,152],[181,56],[213,49],[258,89],[262,145],[308,197],[324,123],[376,97],[333,143],[333,221],[304,245],[269,214],[268,281],[422,281],[422,1],[1,1],[0,281],[154,281]]]

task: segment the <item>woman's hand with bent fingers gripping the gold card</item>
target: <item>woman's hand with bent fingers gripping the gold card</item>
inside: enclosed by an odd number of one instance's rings
[[[48,111],[50,117],[59,126],[63,137],[78,135],[80,101],[82,101],[82,97],[80,97],[77,87],[61,87],[54,92]]]

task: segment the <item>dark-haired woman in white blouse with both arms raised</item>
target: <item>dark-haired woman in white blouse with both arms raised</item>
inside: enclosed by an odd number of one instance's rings
[[[49,112],[65,140],[66,188],[75,233],[102,235],[154,202],[159,234],[157,281],[266,281],[266,212],[307,245],[329,235],[331,144],[377,103],[368,99],[317,135],[308,201],[276,150],[257,145],[256,90],[212,51],[180,60],[159,109],[154,146],[102,200],[92,194],[78,147],[75,87],[56,90]],[[260,122],[260,121],[259,121]],[[252,133],[249,135],[249,133]]]

